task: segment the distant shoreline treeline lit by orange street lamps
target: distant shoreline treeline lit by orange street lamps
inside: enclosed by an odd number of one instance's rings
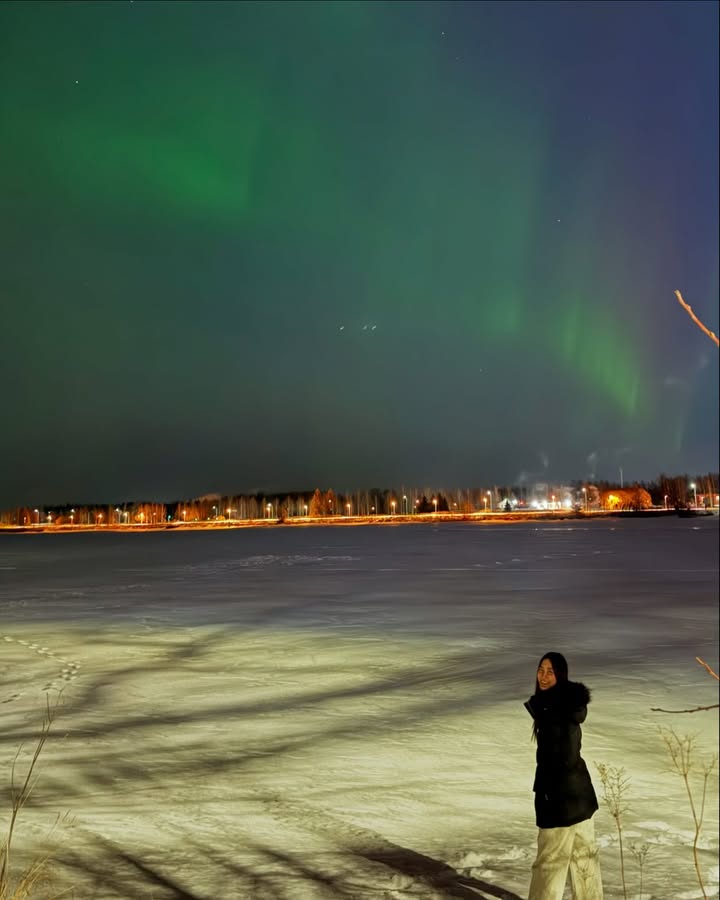
[[[17,507],[0,513],[3,525],[159,525],[163,522],[284,520],[307,516],[408,516],[423,513],[502,512],[523,509],[682,509],[718,506],[718,473],[660,475],[655,481],[619,484],[573,481],[482,488],[372,488],[210,495],[170,503],[122,501]]]

